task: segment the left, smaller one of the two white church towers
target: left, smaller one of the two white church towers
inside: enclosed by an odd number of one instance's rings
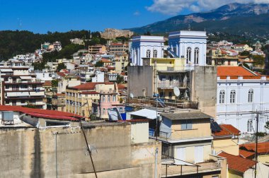
[[[132,38],[131,59],[135,66],[142,66],[142,58],[164,57],[164,37],[137,36]]]

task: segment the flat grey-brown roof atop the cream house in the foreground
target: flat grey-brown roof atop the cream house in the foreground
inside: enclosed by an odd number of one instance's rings
[[[181,113],[162,113],[161,116],[171,120],[184,120],[184,119],[210,119],[210,115],[202,112],[181,112]]]

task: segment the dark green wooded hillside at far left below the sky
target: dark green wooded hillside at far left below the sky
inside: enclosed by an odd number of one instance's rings
[[[89,30],[71,30],[69,32],[47,32],[47,34],[38,34],[29,31],[0,31],[0,60],[7,60],[17,54],[25,54],[35,52],[35,49],[40,49],[40,44],[44,42],[62,43],[62,47],[71,45],[70,40],[74,38],[90,39],[96,37],[102,45],[106,43],[105,39],[101,38],[100,32],[91,32]],[[88,47],[88,46],[86,46]]]

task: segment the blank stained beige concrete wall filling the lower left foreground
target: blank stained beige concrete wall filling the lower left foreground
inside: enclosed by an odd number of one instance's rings
[[[160,144],[133,145],[130,129],[128,123],[85,126],[98,177],[154,177],[152,155]],[[94,177],[79,127],[1,129],[0,143],[1,177]]]

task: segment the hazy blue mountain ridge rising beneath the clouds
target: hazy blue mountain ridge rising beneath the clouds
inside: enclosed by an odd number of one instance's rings
[[[261,23],[259,18],[264,20],[264,24]],[[145,32],[164,33],[187,29],[190,24],[193,27],[192,30],[207,28],[209,32],[234,32],[236,35],[258,32],[258,35],[267,35],[269,24],[265,20],[266,18],[269,18],[269,4],[232,3],[211,11],[173,16],[166,20],[144,25],[140,28],[129,28],[128,30],[140,34]],[[246,26],[246,22],[248,22],[248,26]],[[259,23],[258,26],[256,22]],[[253,29],[253,25],[256,29]],[[240,26],[244,26],[245,31],[233,29],[240,28]]]

